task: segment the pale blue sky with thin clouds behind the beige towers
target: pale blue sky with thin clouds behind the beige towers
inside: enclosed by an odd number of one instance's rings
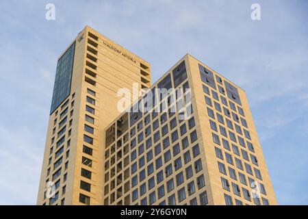
[[[57,57],[85,25],[150,62],[153,81],[190,53],[246,90],[279,204],[308,205],[307,12],[305,0],[1,1],[0,205],[36,204]]]

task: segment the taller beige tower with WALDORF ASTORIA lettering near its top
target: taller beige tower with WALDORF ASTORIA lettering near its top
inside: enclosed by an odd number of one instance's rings
[[[102,203],[103,133],[119,114],[118,90],[134,83],[151,86],[150,64],[88,26],[59,57],[39,205]],[[50,199],[48,182],[57,188]]]

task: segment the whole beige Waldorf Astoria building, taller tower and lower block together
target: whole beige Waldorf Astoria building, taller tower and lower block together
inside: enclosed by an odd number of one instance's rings
[[[38,204],[277,205],[244,90],[189,54],[150,75],[81,31],[57,64]]]

